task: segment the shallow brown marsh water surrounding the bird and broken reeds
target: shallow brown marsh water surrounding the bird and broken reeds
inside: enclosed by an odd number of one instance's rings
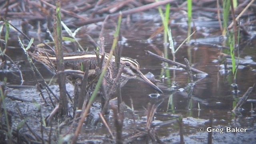
[[[157,15],[157,16],[156,16]],[[233,93],[234,83],[232,72],[223,72],[220,65],[222,64],[218,58],[218,52],[221,50],[214,47],[207,46],[193,46],[184,44],[176,53],[176,62],[185,64],[184,58],[187,58],[190,64],[208,75],[204,78],[196,78],[194,75],[195,85],[192,91],[192,97],[188,98],[188,72],[182,68],[173,68],[171,65],[166,66],[164,63],[153,56],[146,55],[145,50],[157,53],[164,49],[163,34],[157,34],[152,40],[148,40],[151,34],[160,27],[160,16],[155,14],[145,13],[144,17],[140,20],[136,18],[140,16],[134,16],[130,25],[122,24],[122,56],[128,56],[136,59],[140,64],[140,70],[146,74],[151,72],[155,78],[160,80],[157,86],[164,92],[158,97],[150,97],[150,94],[156,92],[150,86],[139,80],[129,80],[128,83],[122,88],[122,100],[126,105],[131,106],[131,100],[133,101],[135,122],[132,120],[133,116],[128,110],[124,111],[124,128],[123,133],[128,134],[136,127],[144,127],[146,123],[146,107],[149,102],[162,101],[155,114],[153,123],[160,123],[167,120],[177,118],[180,114],[183,116],[184,123],[184,139],[186,143],[207,143],[209,111],[214,112],[214,128],[248,128],[246,132],[220,132],[213,133],[214,143],[255,143],[256,142],[256,118],[255,110],[251,112],[251,107],[255,108],[254,102],[247,102],[244,104],[242,112],[238,115],[232,112],[232,109],[239,101],[239,98],[246,92],[246,90],[253,86],[256,82],[256,69],[255,65],[244,66],[238,69],[236,76],[236,84],[238,85],[238,95]],[[200,19],[200,18],[198,18]],[[204,24],[202,24],[204,22]],[[112,45],[115,22],[110,21],[106,24],[103,36],[105,37],[106,52],[109,52]],[[198,24],[198,26],[197,26]],[[200,25],[201,24],[201,25]],[[17,26],[19,26],[17,22]],[[100,23],[98,24],[98,26]],[[214,23],[211,20],[198,20],[195,23],[197,32],[192,36],[192,41],[202,41],[208,44],[224,44],[221,39],[221,32],[218,28],[218,22]],[[96,26],[96,27],[98,27]],[[172,29],[172,36],[175,42],[175,48],[177,48],[183,40],[186,39],[186,22],[174,22],[170,24]],[[255,28],[251,31],[251,34],[255,34]],[[98,35],[100,30],[93,30],[92,34]],[[31,35],[35,36],[35,32],[31,31]],[[65,35],[65,33],[64,33]],[[36,37],[36,36],[35,36]],[[255,36],[254,36],[255,37]],[[14,40],[15,41],[15,40]],[[80,36],[80,42],[83,44],[83,36]],[[256,61],[256,40],[250,39],[243,46],[240,46],[239,55],[240,58],[246,58]],[[18,44],[18,42],[16,43]],[[22,50],[19,50],[18,45],[14,45],[14,49],[7,50],[8,54],[14,61],[25,60],[25,57],[21,57]],[[90,49],[89,49],[90,50]],[[223,50],[222,50],[223,51]],[[172,59],[171,51],[168,50],[168,57]],[[49,73],[41,68],[41,72],[44,77],[49,78]],[[34,86],[35,82],[31,75],[28,65],[21,68],[25,82],[25,85]],[[169,73],[170,76],[164,76]],[[4,75],[6,74],[6,75]],[[13,76],[15,75],[15,76]],[[10,84],[20,84],[17,80],[17,74],[11,72],[7,74],[4,70],[1,70],[1,78],[7,76],[7,82]],[[54,92],[58,94],[58,85],[52,84]],[[67,84],[68,92],[73,96],[74,87],[71,84]],[[184,91],[182,90],[184,89]],[[12,96],[19,96],[27,100],[36,100],[38,103],[45,106],[42,98],[38,96],[38,92],[35,88],[29,89],[15,89],[10,88],[8,94]],[[256,90],[252,91],[249,99],[256,99]],[[7,100],[8,102],[11,100]],[[22,102],[18,102],[22,105]],[[12,103],[13,104],[13,103]],[[36,112],[33,110],[33,103],[29,106],[24,113]],[[9,108],[10,109],[10,108]],[[51,109],[48,107],[44,111],[44,116],[48,115]],[[33,118],[33,115],[29,115]],[[36,116],[34,117],[37,118]],[[110,126],[112,124],[112,116],[108,116],[108,122]],[[14,118],[15,119],[15,118]],[[38,124],[36,122],[35,124]],[[198,129],[204,128],[204,132],[200,133]],[[111,127],[113,128],[113,127]],[[114,130],[114,128],[113,128]],[[164,142],[176,142],[179,141],[179,126],[178,123],[172,123],[164,127],[156,127],[158,136],[163,139]],[[95,143],[100,142],[106,135],[108,135],[107,129],[100,125],[93,128],[83,128],[79,141],[86,142],[92,140]]]

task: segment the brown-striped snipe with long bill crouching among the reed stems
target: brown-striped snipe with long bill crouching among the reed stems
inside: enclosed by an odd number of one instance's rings
[[[56,57],[55,56],[43,56],[41,54],[30,54],[32,55],[37,61],[41,62],[42,64],[45,64],[48,68],[52,69],[52,66],[50,63],[52,63],[55,67],[56,67]],[[102,56],[100,55],[100,58],[102,58]],[[104,56],[104,60],[105,62],[109,59],[109,54],[105,53]],[[50,62],[49,62],[50,60]],[[92,53],[92,52],[73,52],[73,53],[69,53],[69,54],[64,54],[64,66],[65,69],[73,69],[73,70],[80,70],[81,64],[84,64],[85,61],[89,60],[90,62],[90,72],[88,75],[88,82],[90,82],[90,80],[94,79],[96,77],[95,73],[95,69],[96,69],[96,65],[97,65],[97,60],[96,60],[96,54]],[[144,76],[144,74],[142,74],[142,72],[140,72],[140,65],[138,64],[138,62],[132,58],[128,58],[128,57],[121,57],[120,58],[120,68],[124,66],[119,82],[120,82],[120,87],[124,86],[126,84],[126,82],[129,79],[139,79],[142,80],[144,82],[146,82],[146,84],[148,84],[149,86],[151,86],[152,88],[154,88],[155,90],[157,90],[160,93],[163,93],[162,90],[160,90],[160,88],[158,88],[155,84],[153,84],[150,80],[148,80],[148,78],[146,78],[146,76]],[[115,67],[115,57],[112,56],[112,58],[110,59],[110,64],[108,66],[108,70],[105,74],[105,77],[108,78],[108,82],[107,85],[110,85],[111,82],[114,82],[114,70],[113,68]],[[74,78],[73,78],[74,79]],[[75,78],[76,79],[76,78]],[[94,82],[96,84],[96,82]],[[88,90],[89,92],[92,91],[94,89],[95,84],[92,84],[90,86],[90,90]],[[110,85],[111,88],[111,85]],[[109,89],[109,86],[107,86],[107,89]]]

